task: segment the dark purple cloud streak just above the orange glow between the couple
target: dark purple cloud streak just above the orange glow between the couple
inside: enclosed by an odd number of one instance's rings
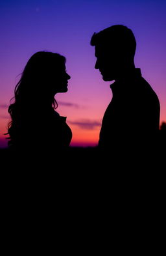
[[[98,126],[101,126],[99,121],[90,121],[89,119],[78,120],[78,121],[68,121],[69,124],[76,125],[84,130],[95,130]]]

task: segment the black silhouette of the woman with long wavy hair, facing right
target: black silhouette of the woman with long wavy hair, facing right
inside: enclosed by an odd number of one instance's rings
[[[56,111],[54,96],[67,92],[70,76],[65,57],[38,51],[30,57],[14,90],[14,103],[8,107],[12,121],[8,124],[9,149],[30,152],[57,152],[69,148],[72,133]]]

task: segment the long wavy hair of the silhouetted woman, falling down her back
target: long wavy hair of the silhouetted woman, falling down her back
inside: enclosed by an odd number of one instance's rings
[[[58,107],[54,99],[53,86],[56,87],[56,75],[64,64],[65,57],[58,53],[38,51],[30,57],[8,107],[12,119],[8,123],[8,146],[14,145],[19,137],[22,121],[37,109],[42,106],[43,108],[51,106],[53,109]]]

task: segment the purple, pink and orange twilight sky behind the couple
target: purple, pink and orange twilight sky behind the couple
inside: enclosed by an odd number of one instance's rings
[[[7,107],[30,56],[36,51],[64,55],[71,76],[68,92],[56,94],[58,113],[67,116],[71,145],[97,145],[102,116],[112,99],[110,82],[95,70],[94,32],[126,25],[137,41],[141,68],[160,100],[166,121],[166,1],[156,0],[2,0],[0,2],[0,147],[6,145]],[[131,121],[132,124],[132,121]]]

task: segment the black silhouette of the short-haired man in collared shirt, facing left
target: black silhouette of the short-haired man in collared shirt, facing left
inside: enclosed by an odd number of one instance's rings
[[[102,79],[115,80],[110,85],[112,100],[102,119],[99,148],[152,145],[160,125],[160,102],[140,68],[135,67],[134,34],[124,25],[113,25],[94,33],[91,46],[95,46],[95,68]]]

